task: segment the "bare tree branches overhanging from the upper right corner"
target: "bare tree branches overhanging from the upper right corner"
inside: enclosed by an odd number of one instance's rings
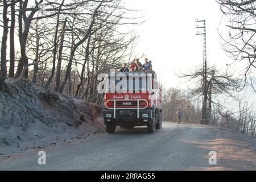
[[[220,34],[224,41],[223,49],[244,69],[241,89],[250,84],[255,89],[256,71],[256,1],[255,0],[216,0],[226,21],[226,31]],[[226,22],[225,22],[226,23]],[[240,89],[240,90],[241,90]]]

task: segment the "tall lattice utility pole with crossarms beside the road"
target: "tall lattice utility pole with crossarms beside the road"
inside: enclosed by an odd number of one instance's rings
[[[204,36],[204,51],[203,51],[203,86],[202,86],[202,92],[203,92],[203,105],[202,105],[202,119],[201,124],[202,125],[209,125],[208,120],[208,108],[207,108],[207,41],[206,41],[206,23],[204,20],[196,19],[196,29],[201,30],[203,29],[203,32],[196,31],[196,35],[203,35]],[[202,24],[203,26],[199,26],[199,24]]]

